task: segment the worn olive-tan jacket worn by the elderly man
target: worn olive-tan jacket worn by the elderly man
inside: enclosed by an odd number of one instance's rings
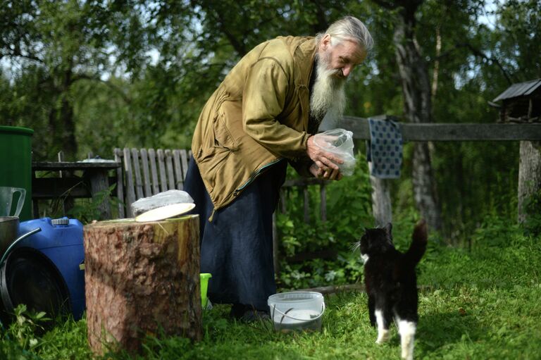
[[[313,37],[263,42],[232,68],[201,111],[192,153],[214,204],[230,204],[265,168],[305,161]]]

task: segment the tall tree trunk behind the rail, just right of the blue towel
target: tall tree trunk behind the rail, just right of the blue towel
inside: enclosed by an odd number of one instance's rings
[[[397,63],[402,78],[404,113],[411,123],[430,123],[432,105],[428,67],[416,46],[415,12],[420,2],[406,2],[394,30]],[[415,144],[413,151],[413,194],[421,216],[430,228],[441,230],[441,210],[435,197],[435,182],[427,143]]]

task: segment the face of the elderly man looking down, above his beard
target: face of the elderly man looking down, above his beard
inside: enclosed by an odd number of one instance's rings
[[[336,70],[335,76],[346,78],[355,66],[366,58],[366,51],[350,39],[342,39],[332,46],[330,35],[323,37],[319,52],[328,70]]]

